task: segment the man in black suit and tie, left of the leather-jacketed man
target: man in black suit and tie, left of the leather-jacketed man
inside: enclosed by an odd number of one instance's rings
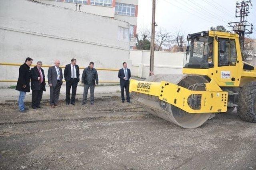
[[[76,87],[79,82],[79,66],[76,59],[72,58],[71,64],[67,64],[64,69],[64,79],[66,80],[66,105],[70,103],[70,88],[72,87],[71,104],[75,105]]]

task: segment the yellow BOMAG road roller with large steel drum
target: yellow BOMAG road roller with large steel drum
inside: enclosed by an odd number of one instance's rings
[[[131,80],[135,102],[183,128],[197,128],[217,113],[256,122],[256,70],[242,61],[238,34],[188,34],[183,74],[155,74]]]

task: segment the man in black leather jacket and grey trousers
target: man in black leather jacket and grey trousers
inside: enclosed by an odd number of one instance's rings
[[[87,68],[84,68],[82,74],[82,84],[84,84],[84,95],[82,104],[87,102],[87,94],[90,88],[90,103],[94,105],[94,87],[99,84],[98,72],[94,67],[94,62],[90,62]]]

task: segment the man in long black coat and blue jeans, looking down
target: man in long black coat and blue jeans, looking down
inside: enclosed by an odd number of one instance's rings
[[[26,92],[30,92],[30,66],[33,62],[32,58],[26,58],[25,63],[22,64],[19,68],[19,78],[16,85],[16,90],[20,91],[20,96],[18,99],[18,104],[20,108],[20,112],[27,112],[27,108],[25,108],[24,98],[26,96]]]

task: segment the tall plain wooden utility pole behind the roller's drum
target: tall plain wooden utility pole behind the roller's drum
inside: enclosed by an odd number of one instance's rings
[[[152,0],[152,24],[151,24],[151,42],[150,42],[150,67],[149,76],[154,74],[154,50],[155,50],[155,15],[156,15],[156,0]]]

